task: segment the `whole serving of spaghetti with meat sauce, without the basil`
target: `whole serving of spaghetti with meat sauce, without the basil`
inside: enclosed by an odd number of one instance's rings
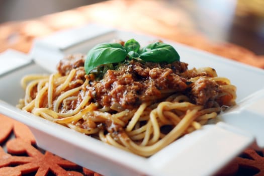
[[[25,76],[18,106],[148,157],[235,104],[229,79],[212,68],[187,65],[131,60],[96,80],[85,74],[83,56],[73,55],[60,62],[57,73]]]

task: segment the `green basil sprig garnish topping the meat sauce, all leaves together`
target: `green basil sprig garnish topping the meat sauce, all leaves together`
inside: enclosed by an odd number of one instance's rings
[[[124,46],[119,43],[96,45],[87,53],[84,69],[87,74],[94,73],[102,77],[108,69],[113,68],[113,63],[131,59],[171,63],[180,60],[180,56],[171,45],[155,42],[140,48],[136,40],[130,39]]]

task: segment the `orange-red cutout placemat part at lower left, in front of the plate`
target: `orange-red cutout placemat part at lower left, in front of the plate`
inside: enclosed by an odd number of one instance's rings
[[[100,175],[48,151],[43,154],[33,146],[36,141],[26,125],[3,115],[0,122],[0,175]]]

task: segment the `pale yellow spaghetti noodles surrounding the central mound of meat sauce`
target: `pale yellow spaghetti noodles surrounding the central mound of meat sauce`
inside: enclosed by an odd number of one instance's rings
[[[160,90],[159,96],[142,99],[132,108],[115,103],[102,106],[91,91],[93,77],[76,79],[78,71],[72,68],[65,75],[27,75],[21,82],[25,97],[18,107],[145,157],[200,129],[223,110],[222,106],[232,106],[236,99],[236,87],[230,80],[207,67],[181,72],[188,82],[184,90]],[[216,84],[218,92],[208,96],[214,96],[209,104],[195,103],[190,91],[206,81]]]

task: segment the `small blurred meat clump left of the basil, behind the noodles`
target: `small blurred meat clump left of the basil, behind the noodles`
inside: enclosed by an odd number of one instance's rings
[[[57,70],[61,75],[68,74],[72,68],[77,68],[80,66],[84,66],[84,55],[75,54],[67,56],[64,59],[61,59],[59,64],[57,65]]]

